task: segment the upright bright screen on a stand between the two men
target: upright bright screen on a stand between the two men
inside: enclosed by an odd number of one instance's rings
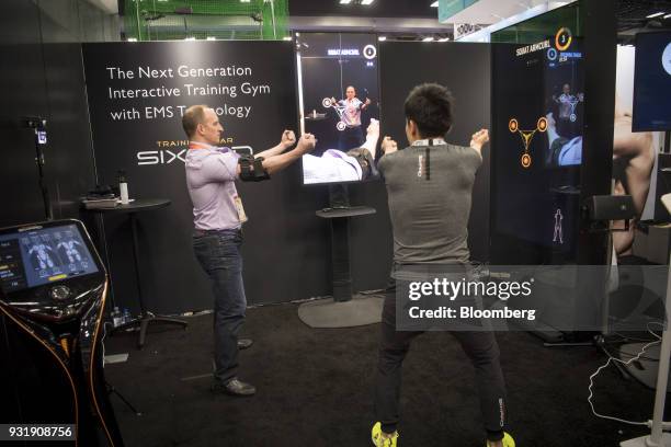
[[[304,184],[366,180],[365,161],[350,151],[364,145],[371,119],[379,118],[376,36],[300,33],[296,45],[302,124],[318,140],[303,158]]]

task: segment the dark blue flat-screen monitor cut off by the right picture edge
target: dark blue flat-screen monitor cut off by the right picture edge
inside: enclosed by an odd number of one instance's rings
[[[632,129],[671,130],[671,31],[636,35]]]

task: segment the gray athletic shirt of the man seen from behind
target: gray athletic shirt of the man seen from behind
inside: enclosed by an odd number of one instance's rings
[[[395,264],[469,262],[468,217],[482,157],[469,147],[410,146],[384,156]]]

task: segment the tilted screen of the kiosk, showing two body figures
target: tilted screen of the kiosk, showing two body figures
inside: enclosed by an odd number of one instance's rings
[[[98,272],[73,224],[0,234],[0,287],[5,294]]]

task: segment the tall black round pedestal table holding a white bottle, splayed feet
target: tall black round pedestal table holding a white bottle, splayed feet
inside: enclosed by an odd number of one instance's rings
[[[138,346],[143,347],[145,345],[145,340],[147,337],[147,328],[149,323],[159,322],[159,323],[168,323],[168,324],[179,324],[182,328],[186,328],[189,323],[183,320],[179,320],[177,318],[157,316],[149,311],[145,307],[145,301],[143,299],[143,280],[139,268],[139,245],[137,242],[137,214],[143,211],[150,211],[155,209],[166,208],[170,205],[170,200],[167,198],[137,198],[133,202],[123,205],[117,204],[113,208],[95,208],[90,209],[90,211],[98,213],[101,215],[111,215],[111,214],[128,214],[130,219],[130,233],[133,234],[133,261],[135,264],[135,277],[137,283],[137,298],[140,306],[140,318],[134,319],[127,323],[121,324],[112,331],[112,333],[116,331],[122,331],[128,328],[134,328],[139,325],[139,341]]]

